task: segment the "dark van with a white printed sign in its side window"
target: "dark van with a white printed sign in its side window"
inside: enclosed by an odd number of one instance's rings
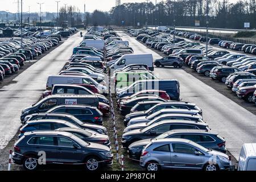
[[[68,96],[68,95],[55,95],[48,96],[43,100],[40,100],[38,103],[27,107],[22,110],[22,114],[20,115],[20,120],[23,121],[24,117],[28,114],[34,113],[45,113],[52,107],[59,105],[77,105],[84,104],[94,107],[99,107],[99,101],[97,96],[93,95],[76,95],[76,96]]]

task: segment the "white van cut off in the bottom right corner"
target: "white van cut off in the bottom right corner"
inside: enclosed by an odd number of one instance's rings
[[[256,171],[256,143],[243,144],[237,170]]]

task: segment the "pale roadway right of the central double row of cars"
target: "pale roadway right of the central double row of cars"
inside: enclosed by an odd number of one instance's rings
[[[161,57],[125,32],[118,31],[118,35],[129,41],[134,53],[152,53],[154,59]],[[179,80],[183,101],[193,102],[203,109],[204,121],[212,131],[226,139],[226,147],[234,158],[238,160],[243,143],[256,142],[256,116],[253,113],[183,69],[155,68],[154,72],[159,78]]]

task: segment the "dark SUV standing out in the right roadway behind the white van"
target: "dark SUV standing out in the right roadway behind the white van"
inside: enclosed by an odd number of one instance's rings
[[[156,67],[160,66],[173,66],[174,68],[181,68],[183,65],[183,59],[179,56],[166,56],[162,59],[154,60]]]

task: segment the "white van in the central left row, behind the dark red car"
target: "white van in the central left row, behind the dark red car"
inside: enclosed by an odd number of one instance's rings
[[[107,88],[105,86],[105,82],[99,84],[96,80],[92,77],[86,76],[72,76],[72,75],[51,75],[48,76],[46,89],[51,90],[53,85],[56,84],[89,84],[96,86],[101,93],[107,93]]]

